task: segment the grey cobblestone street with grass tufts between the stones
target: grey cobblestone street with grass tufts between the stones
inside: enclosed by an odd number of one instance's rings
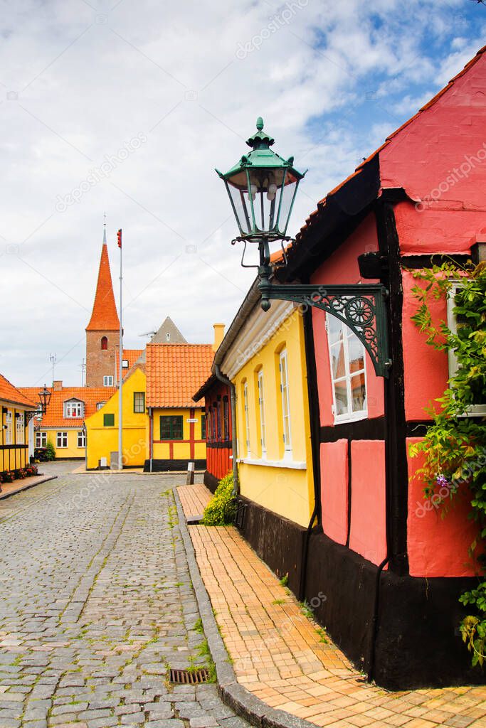
[[[172,486],[68,475],[0,505],[0,728],[244,728],[212,684]],[[203,652],[203,654],[200,654]]]

